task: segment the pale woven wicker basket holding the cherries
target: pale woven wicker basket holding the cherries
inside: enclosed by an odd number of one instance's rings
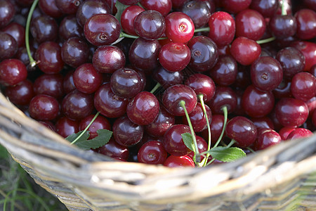
[[[70,146],[0,94],[0,143],[69,210],[316,210],[316,135],[213,167],[114,162]]]

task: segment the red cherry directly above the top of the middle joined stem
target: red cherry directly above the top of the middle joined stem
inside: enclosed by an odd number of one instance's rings
[[[197,96],[202,94],[204,102],[211,101],[215,94],[216,87],[213,79],[201,73],[190,75],[185,81],[185,85],[191,87]]]

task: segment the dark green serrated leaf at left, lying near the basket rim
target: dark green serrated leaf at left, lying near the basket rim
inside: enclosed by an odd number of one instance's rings
[[[110,138],[112,136],[112,132],[110,130],[107,130],[107,129],[98,129],[97,133],[98,133],[98,136],[96,136],[96,138],[88,140],[88,137],[90,135],[88,134],[88,131],[87,131],[83,136],[81,136],[80,139],[78,139],[76,142],[74,142],[74,145],[78,146],[79,148],[81,148],[82,150],[85,150],[85,151],[89,150],[91,148],[95,149],[95,148],[99,148],[99,147],[105,145],[107,142],[109,142]],[[76,138],[76,136],[78,136],[78,135],[72,134],[71,136],[74,136],[74,138]],[[67,139],[68,139],[68,137],[67,137]]]

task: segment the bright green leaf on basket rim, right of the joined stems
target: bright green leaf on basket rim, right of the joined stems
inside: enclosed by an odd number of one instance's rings
[[[241,148],[217,146],[208,151],[211,156],[223,162],[233,162],[239,158],[246,157],[246,153]]]

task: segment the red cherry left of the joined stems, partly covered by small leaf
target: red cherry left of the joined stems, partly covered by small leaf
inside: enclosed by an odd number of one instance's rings
[[[185,124],[174,124],[164,134],[163,145],[166,151],[175,156],[187,155],[191,152],[183,142],[181,134],[190,133],[190,127]]]

